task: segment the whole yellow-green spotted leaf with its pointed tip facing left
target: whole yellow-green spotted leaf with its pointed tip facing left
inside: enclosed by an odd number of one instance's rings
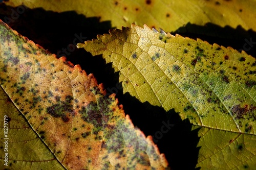
[[[255,167],[256,60],[231,47],[144,26],[79,43],[119,72],[123,92],[175,108],[199,131],[203,169]]]

